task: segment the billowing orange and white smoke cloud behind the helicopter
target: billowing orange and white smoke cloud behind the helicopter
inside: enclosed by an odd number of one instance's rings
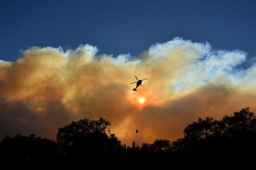
[[[176,37],[137,57],[97,52],[89,44],[66,51],[31,47],[17,61],[0,60],[0,138],[36,133],[55,139],[73,120],[103,117],[122,143],[172,141],[198,117],[256,110],[256,64],[237,67],[247,60],[244,51]],[[137,92],[136,83],[129,84],[134,75],[148,78]]]

